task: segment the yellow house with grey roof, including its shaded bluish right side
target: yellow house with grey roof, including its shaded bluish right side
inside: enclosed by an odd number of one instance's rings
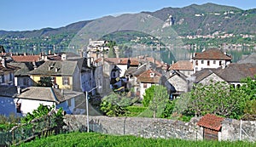
[[[90,65],[90,59],[85,58],[47,60],[28,74],[35,85],[50,78],[55,88],[84,92],[96,87],[93,67]]]

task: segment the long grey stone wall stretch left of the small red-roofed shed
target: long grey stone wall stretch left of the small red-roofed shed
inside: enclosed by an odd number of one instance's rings
[[[160,118],[90,116],[90,130],[115,135],[135,135],[144,138],[202,139],[199,118],[180,122]],[[66,116],[68,131],[86,131],[86,116]]]

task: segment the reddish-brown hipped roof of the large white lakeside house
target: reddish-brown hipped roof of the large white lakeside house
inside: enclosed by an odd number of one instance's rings
[[[227,59],[230,60],[231,57],[227,54],[221,52],[218,48],[211,48],[202,53],[196,53],[195,57],[192,59]]]

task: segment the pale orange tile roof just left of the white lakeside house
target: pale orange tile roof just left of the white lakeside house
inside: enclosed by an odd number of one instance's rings
[[[193,64],[189,60],[179,60],[171,65],[170,69],[176,71],[193,71]]]

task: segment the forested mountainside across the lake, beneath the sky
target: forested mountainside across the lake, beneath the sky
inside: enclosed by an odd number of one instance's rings
[[[143,25],[138,25],[141,21],[149,20],[148,18],[151,20],[150,22],[148,21],[148,24],[144,23]],[[88,26],[85,27],[85,30],[87,29],[91,34],[95,33],[94,35],[97,38],[106,36],[108,33],[114,31],[141,31],[143,28],[151,29],[146,32],[148,32],[149,35],[154,36],[154,34],[150,33],[153,32],[151,26],[160,25],[162,22],[167,25],[169,24],[170,27],[168,28],[172,29],[172,32],[169,32],[174,34],[174,37],[203,36],[212,35],[213,33],[255,35],[256,8],[242,10],[240,8],[214,3],[206,3],[202,5],[192,4],[183,8],[169,7],[162,8],[155,12],[122,14],[116,17],[106,16],[96,20],[85,20],[60,28],[43,28],[34,31],[0,31],[0,44],[3,45],[7,51],[12,49],[13,52],[31,51],[38,53],[41,52],[41,50],[35,48],[52,49],[54,46],[57,48],[57,51],[60,51],[63,48],[67,48],[70,42],[74,40],[74,37],[76,37],[76,34],[79,31],[84,30],[84,26]],[[100,36],[102,34],[97,34],[99,31],[102,31],[105,34]],[[85,40],[87,40],[87,38]],[[129,39],[126,40],[127,42],[131,41]],[[236,40],[234,41],[233,39],[232,43],[236,43]],[[242,40],[237,43],[241,43],[241,41]],[[187,40],[183,40],[183,42],[184,44],[190,43],[190,41],[187,42]],[[230,42],[230,40],[228,42]],[[224,42],[218,43],[222,44]],[[253,41],[252,43],[255,42]]]

